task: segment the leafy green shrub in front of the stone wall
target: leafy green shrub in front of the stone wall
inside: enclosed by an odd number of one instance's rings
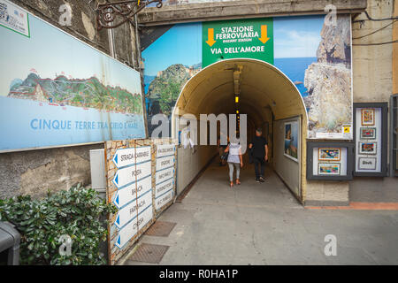
[[[42,200],[20,195],[0,200],[0,220],[21,233],[20,264],[106,264],[100,243],[106,241],[106,221],[116,207],[92,188],[71,187]],[[72,239],[72,255],[61,256],[60,237]]]

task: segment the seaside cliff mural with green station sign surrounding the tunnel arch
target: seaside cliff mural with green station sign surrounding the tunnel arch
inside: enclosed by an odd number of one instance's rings
[[[308,112],[308,138],[352,138],[349,15],[338,15],[335,23],[316,15],[174,25],[142,57],[149,132],[151,117],[170,115],[196,73],[246,57],[274,65],[292,80]]]

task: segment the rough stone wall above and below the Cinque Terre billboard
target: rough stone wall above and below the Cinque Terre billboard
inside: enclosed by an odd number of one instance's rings
[[[88,0],[11,0],[35,16],[61,28],[97,50],[111,55],[108,32],[96,30],[96,14],[88,6]],[[91,7],[94,7],[93,1]],[[59,19],[65,11],[62,4],[72,8],[71,26],[62,26]],[[130,67],[139,65],[139,50],[135,42],[135,27],[124,24],[113,30],[115,57]],[[14,195],[42,197],[47,191],[68,189],[81,182],[91,183],[89,150],[101,149],[95,145],[38,149],[12,153],[0,153],[0,198]]]

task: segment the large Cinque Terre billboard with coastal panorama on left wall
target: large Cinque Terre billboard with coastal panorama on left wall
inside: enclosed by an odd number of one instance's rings
[[[0,0],[0,151],[144,138],[140,73]]]

